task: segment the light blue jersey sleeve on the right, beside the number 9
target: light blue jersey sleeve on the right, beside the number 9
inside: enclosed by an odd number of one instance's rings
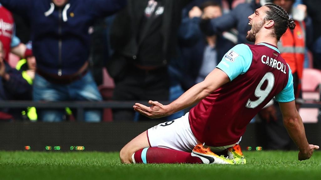
[[[288,84],[284,87],[284,89],[279,94],[275,96],[275,100],[277,102],[291,102],[295,100],[294,89],[293,89],[293,76],[292,76],[292,71],[289,64],[288,64],[288,67],[289,67]]]

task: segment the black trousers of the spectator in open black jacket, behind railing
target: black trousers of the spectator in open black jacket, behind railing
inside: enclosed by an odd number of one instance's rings
[[[167,67],[155,70],[142,70],[135,66],[127,69],[121,80],[115,82],[114,101],[168,101],[169,100],[169,77]],[[134,105],[134,104],[133,104]],[[134,109],[113,109],[114,121],[132,121]],[[166,117],[162,118],[166,121]],[[162,120],[158,119],[158,120]],[[139,120],[150,120],[139,115]]]

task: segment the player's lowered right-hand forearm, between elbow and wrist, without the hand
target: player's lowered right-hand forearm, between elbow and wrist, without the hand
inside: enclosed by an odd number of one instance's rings
[[[309,143],[306,138],[304,125],[299,113],[295,118],[283,118],[283,124],[290,137],[299,148],[299,151],[305,152],[308,150]]]

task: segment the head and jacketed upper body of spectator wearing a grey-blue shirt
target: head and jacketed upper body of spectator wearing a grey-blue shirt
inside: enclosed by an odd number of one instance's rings
[[[182,76],[184,78],[181,80],[184,90],[203,81],[206,75],[221,61],[223,55],[235,45],[235,43],[226,38],[227,36],[204,36],[199,29],[201,14],[208,13],[213,19],[222,16],[220,4],[213,1],[205,1],[200,5],[200,8],[193,7],[189,12],[189,18],[184,19],[180,26],[180,49],[182,58],[185,61],[185,73]],[[199,17],[193,16],[193,12],[198,10],[200,11]],[[194,32],[188,32],[188,29]],[[223,34],[231,35],[230,32],[224,32]]]

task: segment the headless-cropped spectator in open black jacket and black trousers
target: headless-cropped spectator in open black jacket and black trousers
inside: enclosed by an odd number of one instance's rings
[[[181,10],[190,1],[128,0],[117,14],[110,34],[115,53],[107,66],[116,85],[113,100],[168,100],[167,66],[176,54]],[[132,120],[134,111],[114,109],[113,117]]]

